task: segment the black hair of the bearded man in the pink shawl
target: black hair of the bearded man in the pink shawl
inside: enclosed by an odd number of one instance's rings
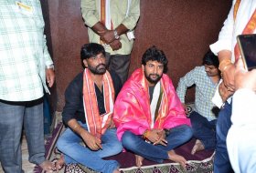
[[[164,65],[164,73],[167,72],[168,60],[165,53],[156,46],[149,47],[142,57],[142,64],[145,66],[148,61],[157,61]]]

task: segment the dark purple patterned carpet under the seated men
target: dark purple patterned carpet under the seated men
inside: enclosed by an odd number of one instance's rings
[[[192,108],[191,108],[192,109]],[[190,110],[191,110],[190,109]],[[52,136],[48,138],[46,143],[46,158],[55,162],[60,157],[60,152],[56,148],[56,142],[59,135],[65,130],[62,123],[53,130]],[[121,171],[123,173],[210,173],[213,168],[214,150],[203,150],[191,155],[190,151],[195,144],[196,139],[192,138],[187,144],[176,148],[176,153],[184,156],[187,159],[187,167],[182,168],[179,164],[166,160],[163,164],[156,164],[155,162],[144,159],[144,166],[142,168],[135,167],[135,158],[133,153],[124,152],[114,157],[106,159],[115,159],[122,165]],[[42,169],[34,168],[34,173],[41,173]],[[79,164],[69,164],[62,168],[60,173],[96,173],[91,168],[83,167]]]

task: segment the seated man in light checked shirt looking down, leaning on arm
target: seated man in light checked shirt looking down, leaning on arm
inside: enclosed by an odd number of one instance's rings
[[[211,51],[203,58],[203,66],[197,66],[180,78],[176,88],[177,96],[185,104],[187,87],[196,85],[195,110],[189,115],[194,137],[197,138],[191,154],[203,149],[215,149],[217,107],[212,103],[216,88],[219,84],[219,59]]]

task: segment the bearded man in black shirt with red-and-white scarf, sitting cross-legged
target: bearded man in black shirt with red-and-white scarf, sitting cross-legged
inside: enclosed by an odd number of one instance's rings
[[[59,137],[57,148],[64,163],[80,163],[97,172],[119,172],[119,163],[104,160],[123,149],[112,123],[114,99],[122,85],[119,76],[106,70],[104,47],[91,43],[81,47],[84,72],[76,76],[65,93],[63,122],[67,130]]]

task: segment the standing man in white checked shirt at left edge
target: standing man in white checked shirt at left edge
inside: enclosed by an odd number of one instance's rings
[[[44,89],[54,83],[40,1],[0,2],[0,161],[5,173],[21,173],[24,126],[29,161],[50,172],[45,158]],[[49,93],[49,92],[48,92]]]

